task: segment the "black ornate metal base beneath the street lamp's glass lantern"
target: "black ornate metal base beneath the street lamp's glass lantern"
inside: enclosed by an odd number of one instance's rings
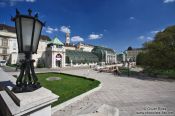
[[[25,55],[26,59],[21,61],[21,71],[16,80],[16,86],[12,89],[15,93],[31,92],[41,87],[34,71],[35,60],[31,60],[31,54]]]

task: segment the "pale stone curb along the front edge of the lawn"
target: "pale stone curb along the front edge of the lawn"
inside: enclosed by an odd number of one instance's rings
[[[77,102],[78,100],[83,99],[83,98],[86,97],[87,95],[90,95],[91,93],[93,93],[93,92],[95,92],[95,91],[98,91],[99,89],[101,89],[101,87],[102,87],[102,83],[100,83],[100,85],[99,85],[98,87],[96,87],[96,88],[94,88],[94,89],[91,89],[90,91],[87,91],[87,92],[85,92],[85,93],[83,93],[83,94],[81,94],[81,95],[79,95],[79,96],[76,96],[76,97],[74,97],[74,98],[72,98],[72,99],[70,99],[70,100],[68,100],[68,101],[66,101],[66,102],[63,102],[63,103],[61,103],[61,104],[59,104],[59,105],[57,105],[57,106],[54,106],[54,107],[52,108],[52,114],[55,113],[56,111],[58,111],[58,110],[64,108],[64,107],[66,107],[66,106],[72,104],[72,103]]]

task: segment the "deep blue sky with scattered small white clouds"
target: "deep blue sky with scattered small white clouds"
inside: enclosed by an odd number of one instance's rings
[[[15,9],[39,12],[43,34],[65,41],[113,48],[141,47],[155,33],[175,24],[175,0],[0,0],[0,23],[14,26]]]

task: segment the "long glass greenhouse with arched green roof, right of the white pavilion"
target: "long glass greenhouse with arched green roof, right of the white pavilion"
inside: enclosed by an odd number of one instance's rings
[[[66,63],[116,63],[116,53],[110,48],[95,46],[91,52],[66,50]]]

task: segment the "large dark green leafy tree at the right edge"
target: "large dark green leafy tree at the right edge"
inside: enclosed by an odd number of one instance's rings
[[[138,63],[146,68],[173,70],[175,68],[175,26],[156,34],[152,42],[144,44],[146,52]]]

